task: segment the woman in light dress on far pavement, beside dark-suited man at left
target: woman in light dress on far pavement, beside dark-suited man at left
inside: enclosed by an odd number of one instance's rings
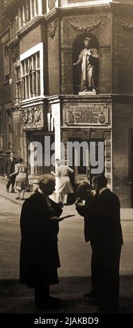
[[[15,172],[10,174],[10,177],[15,176],[15,190],[17,191],[16,200],[24,200],[25,190],[28,189],[28,177],[27,177],[27,165],[23,163],[21,157],[17,158],[15,164]],[[22,198],[20,198],[20,193],[22,192]]]

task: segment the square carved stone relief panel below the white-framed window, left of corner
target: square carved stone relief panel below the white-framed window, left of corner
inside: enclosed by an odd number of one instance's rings
[[[24,130],[44,127],[43,107],[27,107],[22,110],[22,126]]]

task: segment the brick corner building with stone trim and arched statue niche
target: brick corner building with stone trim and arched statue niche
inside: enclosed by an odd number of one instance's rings
[[[0,10],[0,160],[10,149],[28,162],[30,142],[104,143],[103,172],[123,207],[133,205],[133,4],[132,0],[6,0]],[[79,94],[77,61],[84,38],[100,53],[97,94]],[[49,137],[49,138],[47,138]],[[88,148],[89,150],[89,148]],[[97,154],[96,154],[97,156]],[[45,165],[44,165],[45,164]],[[90,163],[77,166],[75,182]]]

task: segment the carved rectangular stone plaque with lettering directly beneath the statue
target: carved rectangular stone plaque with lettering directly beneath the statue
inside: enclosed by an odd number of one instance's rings
[[[107,125],[109,124],[109,104],[65,105],[65,124],[67,125]]]

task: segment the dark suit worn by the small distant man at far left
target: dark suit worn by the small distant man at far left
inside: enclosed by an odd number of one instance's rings
[[[15,160],[16,159],[13,158],[12,161],[10,157],[6,159],[5,173],[7,174],[7,176],[15,172]],[[13,175],[13,177],[8,177],[8,183],[6,184],[7,189],[9,189],[10,184],[12,185],[12,191],[13,191],[15,185],[15,175]]]

